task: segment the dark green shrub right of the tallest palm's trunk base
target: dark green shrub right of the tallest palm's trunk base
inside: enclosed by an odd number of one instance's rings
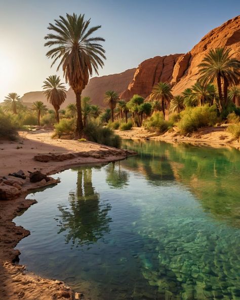
[[[108,128],[103,127],[96,121],[89,121],[84,128],[84,134],[88,137],[88,140],[94,141],[99,144],[119,147],[120,138],[118,135]]]

